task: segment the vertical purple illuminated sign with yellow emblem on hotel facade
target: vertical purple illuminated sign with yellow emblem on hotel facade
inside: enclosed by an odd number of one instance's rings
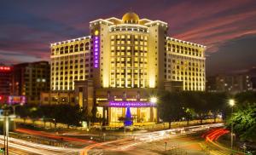
[[[93,55],[94,55],[94,67],[99,67],[99,54],[100,54],[100,37],[99,32],[96,30],[93,36]]]

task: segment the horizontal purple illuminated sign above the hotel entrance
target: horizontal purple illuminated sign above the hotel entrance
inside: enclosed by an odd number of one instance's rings
[[[142,101],[109,101],[111,107],[149,107],[156,106],[152,102],[142,102]]]

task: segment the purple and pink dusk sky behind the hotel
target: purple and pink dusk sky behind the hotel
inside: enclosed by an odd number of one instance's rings
[[[89,22],[132,10],[168,36],[207,46],[207,73],[256,66],[255,0],[22,0],[0,4],[0,63],[49,60],[49,43],[89,35]]]

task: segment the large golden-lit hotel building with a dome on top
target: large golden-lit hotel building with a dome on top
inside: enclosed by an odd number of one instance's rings
[[[159,89],[205,90],[206,47],[167,37],[167,30],[164,21],[129,12],[90,21],[90,36],[51,43],[51,98],[72,93],[75,104],[95,105],[109,124],[128,108],[133,123],[155,122],[150,98]]]

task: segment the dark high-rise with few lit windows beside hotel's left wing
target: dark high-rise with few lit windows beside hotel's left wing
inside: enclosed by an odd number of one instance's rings
[[[40,93],[49,92],[49,72],[47,61],[15,65],[12,95],[24,95],[28,104],[39,104]]]

